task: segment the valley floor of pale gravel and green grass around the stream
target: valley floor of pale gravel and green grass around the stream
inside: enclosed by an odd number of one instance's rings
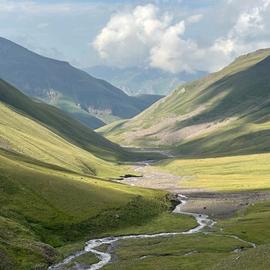
[[[146,239],[125,239],[113,244],[101,245],[100,251],[112,254],[112,261],[102,269],[134,270],[265,270],[270,268],[270,233],[267,230],[270,218],[270,192],[248,190],[214,192],[188,188],[181,176],[173,175],[156,166],[139,164],[134,167],[138,177],[116,180],[132,186],[184,193],[188,196],[182,211],[207,214],[217,223],[212,229],[191,235],[175,235]],[[186,180],[186,179],[185,179]],[[172,196],[173,198],[173,196]],[[131,226],[114,231],[112,235],[179,232],[194,227],[185,216],[164,214],[143,226]],[[256,244],[256,248],[252,243]],[[96,263],[93,255],[88,261],[78,257],[71,268]],[[250,256],[256,256],[254,261]],[[90,260],[90,261],[89,261]],[[78,266],[77,264],[77,266]],[[72,268],[74,267],[74,268]],[[80,268],[89,269],[89,268]],[[92,269],[92,268],[90,268]],[[100,269],[100,268],[93,268]]]

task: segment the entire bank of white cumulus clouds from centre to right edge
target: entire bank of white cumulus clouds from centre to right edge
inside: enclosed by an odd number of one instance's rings
[[[224,5],[228,10],[237,7],[239,12],[228,31],[208,40],[207,45],[188,35],[193,24],[203,21],[202,14],[177,21],[172,14],[162,13],[153,4],[113,15],[93,45],[111,65],[150,66],[173,73],[216,71],[240,54],[270,46],[270,37],[267,37],[270,0],[227,0]],[[214,12],[224,16],[222,10]],[[201,31],[207,39],[209,29],[202,27]]]

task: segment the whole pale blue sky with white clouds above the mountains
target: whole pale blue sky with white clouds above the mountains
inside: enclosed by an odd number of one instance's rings
[[[269,29],[270,0],[0,0],[0,36],[80,68],[213,72]]]

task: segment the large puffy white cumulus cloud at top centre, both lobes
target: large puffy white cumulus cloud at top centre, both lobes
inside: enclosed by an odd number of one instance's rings
[[[200,15],[193,16],[188,23],[200,19]],[[173,23],[171,15],[148,4],[112,16],[93,45],[111,64],[150,65],[171,72],[191,71],[192,68],[183,60],[196,44],[181,38],[185,30],[185,21]]]

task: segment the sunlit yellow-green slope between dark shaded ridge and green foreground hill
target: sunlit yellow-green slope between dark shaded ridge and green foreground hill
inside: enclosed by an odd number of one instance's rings
[[[45,126],[0,103],[0,147],[49,164],[99,176],[116,176],[121,170],[83,150]]]

